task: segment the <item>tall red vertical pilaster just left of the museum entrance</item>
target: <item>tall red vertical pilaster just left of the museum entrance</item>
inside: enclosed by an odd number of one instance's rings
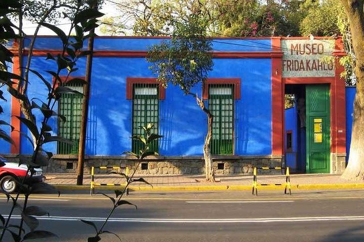
[[[272,47],[281,48],[281,38],[272,38]],[[272,155],[284,154],[284,80],[282,79],[282,56],[271,59]]]

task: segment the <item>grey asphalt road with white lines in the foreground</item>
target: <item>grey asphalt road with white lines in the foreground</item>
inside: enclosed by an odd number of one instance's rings
[[[361,190],[295,191],[292,196],[263,191],[258,197],[248,192],[136,193],[127,200],[138,210],[122,205],[105,228],[122,241],[364,241]],[[38,229],[59,235],[43,241],[87,241],[95,230],[79,219],[100,226],[111,201],[102,195],[37,195],[29,205],[50,212],[39,218]],[[9,209],[6,199],[0,199],[0,213]],[[14,224],[20,212],[15,215]],[[112,234],[101,237],[119,241]]]

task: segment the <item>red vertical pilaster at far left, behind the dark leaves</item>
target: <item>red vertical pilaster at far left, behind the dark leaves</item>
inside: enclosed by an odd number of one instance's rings
[[[20,75],[20,63],[19,56],[13,57],[13,73]],[[18,80],[13,79],[13,82],[17,83]],[[14,84],[13,88],[17,88],[18,84]],[[15,97],[11,97],[11,125],[14,127],[14,131],[11,132],[10,137],[13,139],[15,145],[10,148],[10,153],[20,153],[20,120],[15,116],[21,116],[21,108],[19,100]]]

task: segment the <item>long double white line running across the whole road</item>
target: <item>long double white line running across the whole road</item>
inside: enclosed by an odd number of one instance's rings
[[[9,216],[9,215],[4,215]],[[67,217],[67,216],[35,216],[39,220],[79,221],[80,219],[102,222],[101,217]],[[13,219],[21,219],[13,215]],[[140,222],[140,223],[272,223],[272,222],[307,222],[307,221],[343,221],[364,220],[364,216],[331,216],[331,217],[290,217],[290,218],[227,218],[227,219],[173,219],[173,218],[110,218],[110,222]]]

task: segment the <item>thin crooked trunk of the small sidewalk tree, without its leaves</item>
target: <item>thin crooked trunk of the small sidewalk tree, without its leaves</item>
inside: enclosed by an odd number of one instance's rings
[[[207,134],[205,137],[205,143],[203,146],[204,159],[205,159],[205,172],[206,172],[206,181],[211,183],[215,182],[215,171],[213,168],[211,150],[210,150],[210,141],[212,138],[212,120],[213,116],[210,110],[205,107],[205,103],[202,98],[199,99],[196,95],[197,104],[201,107],[202,111],[204,111],[207,115]]]

